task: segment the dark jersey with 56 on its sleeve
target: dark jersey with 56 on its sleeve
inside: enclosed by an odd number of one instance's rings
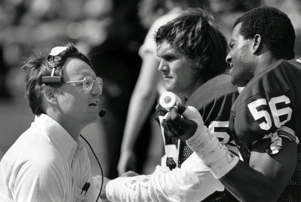
[[[229,127],[247,164],[252,144],[258,140],[281,137],[298,144],[301,125],[300,78],[301,59],[279,60],[252,78],[236,99]],[[273,155],[271,148],[267,148],[267,152]],[[279,201],[301,200],[300,151],[298,144],[297,167]]]

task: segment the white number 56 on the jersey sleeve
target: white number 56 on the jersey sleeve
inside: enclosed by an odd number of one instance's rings
[[[289,120],[291,120],[291,117],[292,117],[293,110],[290,107],[286,107],[283,109],[276,108],[276,104],[282,103],[282,102],[284,102],[285,104],[288,104],[288,103],[290,103],[290,100],[285,95],[282,95],[282,96],[272,98],[270,100],[270,102],[268,103],[270,106],[270,109],[271,109],[272,118],[273,118],[275,126],[277,128],[280,128],[281,125],[283,125],[286,122],[288,122]],[[259,126],[263,130],[268,130],[272,127],[272,119],[271,119],[270,114],[266,110],[257,111],[256,107],[261,106],[261,105],[267,105],[267,99],[265,99],[265,98],[257,99],[254,102],[251,102],[250,104],[248,104],[248,108],[255,120],[258,120],[262,117],[264,117],[266,119],[267,123],[262,122],[259,124]],[[288,115],[287,119],[280,122],[279,116],[285,115],[285,114]]]

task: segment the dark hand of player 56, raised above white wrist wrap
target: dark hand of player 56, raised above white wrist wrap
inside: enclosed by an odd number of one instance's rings
[[[162,121],[162,127],[168,137],[187,140],[194,135],[198,125],[193,120],[182,117],[186,108],[177,102],[177,108],[172,108]]]

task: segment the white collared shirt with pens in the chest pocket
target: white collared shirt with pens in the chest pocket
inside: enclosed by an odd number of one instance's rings
[[[96,196],[84,144],[45,114],[36,116],[0,162],[1,201],[90,202]]]

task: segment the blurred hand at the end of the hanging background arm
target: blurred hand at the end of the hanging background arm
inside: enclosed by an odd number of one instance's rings
[[[134,151],[121,151],[117,171],[119,176],[126,171],[136,170],[136,155]]]

